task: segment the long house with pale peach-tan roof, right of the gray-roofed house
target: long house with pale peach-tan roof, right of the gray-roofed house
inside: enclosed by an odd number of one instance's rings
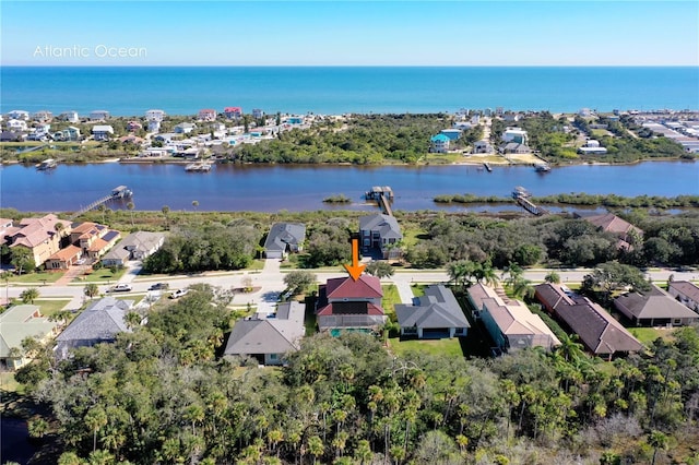
[[[483,320],[499,350],[543,347],[547,350],[560,345],[550,329],[520,300],[508,299],[491,287],[476,283],[469,288],[469,300]]]

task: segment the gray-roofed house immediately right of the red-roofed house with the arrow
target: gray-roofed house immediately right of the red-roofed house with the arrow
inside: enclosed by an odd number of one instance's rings
[[[394,308],[402,336],[416,335],[419,339],[464,337],[471,327],[453,293],[441,284],[425,288],[418,305],[396,305]]]

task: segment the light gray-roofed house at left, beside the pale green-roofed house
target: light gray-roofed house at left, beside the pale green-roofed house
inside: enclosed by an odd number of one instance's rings
[[[105,297],[91,303],[56,338],[56,357],[64,359],[76,347],[91,347],[115,341],[117,333],[131,332],[125,317],[133,308],[133,300]]]

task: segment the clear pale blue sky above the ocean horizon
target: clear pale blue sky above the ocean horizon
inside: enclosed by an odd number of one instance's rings
[[[5,65],[699,65],[696,0],[2,0],[0,15]]]

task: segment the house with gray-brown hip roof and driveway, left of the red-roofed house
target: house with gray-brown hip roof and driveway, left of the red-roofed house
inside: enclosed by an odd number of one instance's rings
[[[236,321],[224,356],[249,356],[259,365],[282,365],[286,354],[299,348],[306,333],[305,313],[304,303],[291,301],[280,303],[274,314]]]

